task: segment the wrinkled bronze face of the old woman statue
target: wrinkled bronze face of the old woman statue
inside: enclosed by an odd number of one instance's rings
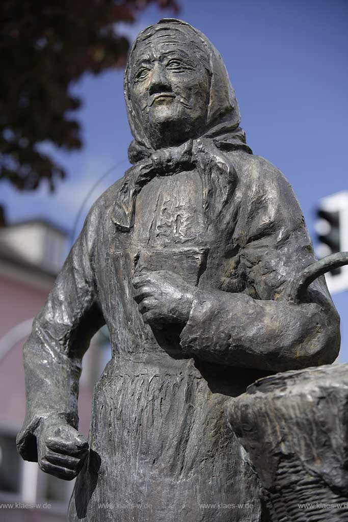
[[[210,76],[189,41],[158,31],[138,44],[131,66],[133,108],[154,148],[199,136],[206,125]]]

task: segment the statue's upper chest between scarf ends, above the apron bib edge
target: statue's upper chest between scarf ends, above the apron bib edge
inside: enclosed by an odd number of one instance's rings
[[[200,242],[206,230],[203,187],[196,171],[156,177],[137,197],[133,244]]]

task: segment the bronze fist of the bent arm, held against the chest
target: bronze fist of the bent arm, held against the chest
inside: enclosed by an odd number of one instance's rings
[[[133,278],[134,299],[143,321],[151,326],[176,323],[185,326],[196,287],[167,270],[147,271]]]

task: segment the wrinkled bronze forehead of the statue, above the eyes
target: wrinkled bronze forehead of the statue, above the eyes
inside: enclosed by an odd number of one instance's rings
[[[208,70],[210,55],[207,46],[193,31],[176,27],[153,26],[143,32],[128,59],[129,66],[137,68],[143,61],[165,55],[178,55],[200,63]]]

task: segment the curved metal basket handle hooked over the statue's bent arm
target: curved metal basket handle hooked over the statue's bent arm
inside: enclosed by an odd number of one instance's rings
[[[348,265],[348,252],[330,254],[307,266],[291,284],[289,300],[294,303],[299,303],[309,284],[317,279],[317,277],[322,276],[329,270],[340,268],[344,265]]]

